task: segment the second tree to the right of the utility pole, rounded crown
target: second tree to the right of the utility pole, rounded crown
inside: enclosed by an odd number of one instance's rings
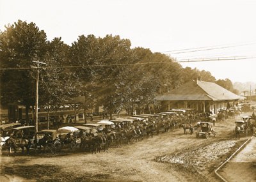
[[[93,108],[96,104],[97,89],[97,70],[93,66],[97,61],[102,59],[99,54],[99,39],[94,35],[81,35],[76,42],[72,43],[68,54],[69,64],[75,66],[72,72],[77,81],[77,96],[84,96],[84,103],[81,107],[84,109],[84,117],[86,117],[87,110]],[[104,59],[104,56],[103,56]],[[85,118],[86,119],[86,118]]]

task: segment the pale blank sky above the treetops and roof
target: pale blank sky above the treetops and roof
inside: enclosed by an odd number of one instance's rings
[[[34,22],[48,40],[61,37],[68,45],[82,34],[113,34],[131,40],[132,48],[177,61],[232,57],[180,64],[209,71],[216,79],[256,82],[255,9],[253,0],[0,0],[0,30],[20,19]],[[246,59],[233,58],[241,56]]]

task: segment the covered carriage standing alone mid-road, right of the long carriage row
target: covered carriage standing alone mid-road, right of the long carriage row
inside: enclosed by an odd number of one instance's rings
[[[210,122],[198,122],[198,127],[196,130],[196,137],[204,136],[206,139],[209,139],[209,135],[216,136],[216,130],[213,129],[213,124]]]

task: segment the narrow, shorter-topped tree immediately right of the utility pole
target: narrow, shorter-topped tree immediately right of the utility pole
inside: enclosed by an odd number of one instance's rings
[[[48,108],[48,116],[50,107],[57,111],[61,105],[76,95],[78,83],[74,79],[74,72],[63,67],[68,65],[68,51],[69,46],[63,43],[61,38],[54,38],[47,44],[47,66],[40,74],[39,105]]]

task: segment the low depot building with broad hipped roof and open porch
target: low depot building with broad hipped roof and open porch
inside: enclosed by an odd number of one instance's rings
[[[227,109],[243,97],[236,95],[213,82],[193,80],[171,90],[164,95],[156,96],[161,102],[161,110],[189,108],[198,112],[216,114],[220,109]]]

